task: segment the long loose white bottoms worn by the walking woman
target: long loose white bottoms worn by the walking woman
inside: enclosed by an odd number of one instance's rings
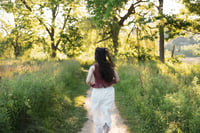
[[[115,89],[110,86],[107,88],[93,88],[91,94],[91,108],[93,121],[96,128],[102,128],[107,124],[111,128],[111,110],[115,100]]]

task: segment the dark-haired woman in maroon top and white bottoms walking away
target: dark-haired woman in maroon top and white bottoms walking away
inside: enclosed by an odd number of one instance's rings
[[[95,49],[96,63],[90,66],[86,82],[92,87],[91,108],[96,133],[108,133],[111,129],[110,112],[115,100],[112,84],[119,82],[108,49]]]

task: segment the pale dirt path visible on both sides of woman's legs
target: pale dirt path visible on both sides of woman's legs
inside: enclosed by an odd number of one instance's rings
[[[91,106],[90,106],[90,96],[91,96],[91,89],[88,91],[85,108],[88,111],[88,121],[84,124],[82,131],[79,133],[95,133],[95,125],[92,122],[92,115],[91,115]],[[123,124],[123,119],[119,115],[119,111],[117,110],[116,106],[114,106],[112,115],[112,129],[109,133],[129,133],[128,128],[125,124]]]

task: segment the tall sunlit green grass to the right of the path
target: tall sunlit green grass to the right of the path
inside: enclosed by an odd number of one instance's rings
[[[199,68],[156,62],[120,66],[116,103],[131,133],[200,132]]]

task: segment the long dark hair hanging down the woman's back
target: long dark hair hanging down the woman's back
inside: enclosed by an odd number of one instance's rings
[[[95,50],[95,60],[99,64],[99,72],[106,82],[113,81],[114,63],[112,62],[108,49],[97,47]]]

